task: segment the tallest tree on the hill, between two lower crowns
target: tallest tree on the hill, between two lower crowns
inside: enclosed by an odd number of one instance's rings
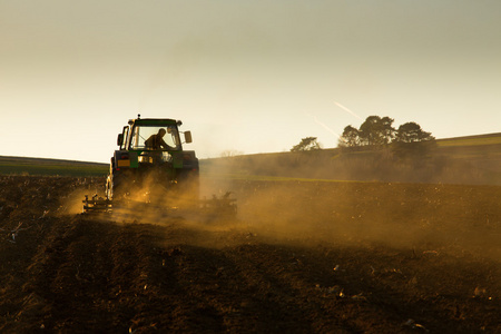
[[[360,126],[360,145],[385,145],[390,144],[395,129],[392,127],[393,118],[380,116],[369,116]]]

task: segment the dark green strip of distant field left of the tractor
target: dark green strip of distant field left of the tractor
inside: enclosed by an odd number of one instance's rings
[[[0,174],[106,176],[108,168],[98,163],[0,156]]]

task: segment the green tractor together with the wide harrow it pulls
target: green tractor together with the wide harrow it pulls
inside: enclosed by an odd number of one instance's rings
[[[183,149],[183,144],[191,143],[191,132],[181,132],[181,143],[180,126],[175,119],[140,115],[130,119],[117,138],[119,148],[111,157],[105,198],[86,196],[84,213],[112,212],[130,203],[236,213],[229,193],[220,199],[199,199],[198,158],[195,151]]]

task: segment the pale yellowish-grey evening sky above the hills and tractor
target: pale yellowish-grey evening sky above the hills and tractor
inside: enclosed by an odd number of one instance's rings
[[[0,0],[0,156],[108,163],[128,119],[199,158],[390,116],[501,131],[499,0]]]

